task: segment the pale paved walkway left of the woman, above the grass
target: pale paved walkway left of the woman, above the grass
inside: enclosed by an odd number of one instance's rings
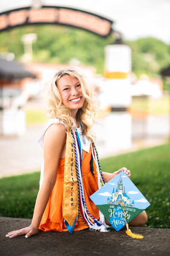
[[[42,148],[38,140],[44,126],[29,126],[20,137],[0,137],[0,177],[40,170]]]

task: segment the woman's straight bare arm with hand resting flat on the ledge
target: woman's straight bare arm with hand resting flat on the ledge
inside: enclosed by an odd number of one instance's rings
[[[45,207],[48,203],[51,191],[57,178],[57,170],[62,148],[65,144],[66,133],[65,126],[62,124],[51,125],[44,135],[44,177],[42,186],[38,192],[37,200],[34,208],[34,215],[31,225],[21,230],[14,230],[6,237],[13,238],[15,236],[25,235],[29,237],[37,233],[38,227]]]

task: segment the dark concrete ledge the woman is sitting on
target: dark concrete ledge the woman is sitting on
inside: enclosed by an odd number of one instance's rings
[[[42,232],[26,239],[14,239],[5,235],[31,224],[31,219],[0,217],[1,256],[169,256],[170,229],[131,227],[133,233],[144,236],[133,239],[125,228],[116,232],[91,232],[81,230],[68,232]]]

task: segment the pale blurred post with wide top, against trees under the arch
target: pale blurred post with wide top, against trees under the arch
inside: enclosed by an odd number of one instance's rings
[[[24,61],[32,61],[32,43],[37,40],[37,35],[34,33],[23,35],[21,41],[24,44]]]

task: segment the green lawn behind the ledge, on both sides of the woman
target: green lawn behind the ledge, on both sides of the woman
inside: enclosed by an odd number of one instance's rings
[[[150,202],[147,227],[170,228],[170,143],[108,157],[100,161],[104,172],[126,166],[131,180]],[[0,179],[0,215],[32,218],[40,172]]]

